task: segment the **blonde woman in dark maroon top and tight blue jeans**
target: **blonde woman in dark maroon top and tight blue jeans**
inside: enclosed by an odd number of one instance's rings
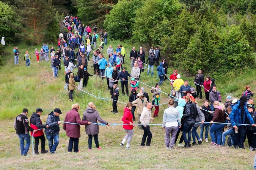
[[[212,126],[210,127],[210,138],[212,139],[212,142],[209,145],[220,146],[221,131],[224,128],[225,124],[215,124],[214,122],[225,123],[227,115],[225,114],[225,105],[221,104],[218,101],[215,101],[213,103],[213,106],[215,108],[214,117],[212,118],[212,121],[210,121],[210,123],[212,124]],[[216,133],[217,141],[215,141],[214,133]]]

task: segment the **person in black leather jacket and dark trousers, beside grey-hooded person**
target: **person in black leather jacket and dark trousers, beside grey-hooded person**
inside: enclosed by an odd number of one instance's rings
[[[185,119],[185,123],[184,123],[184,127],[183,127],[183,131],[182,131],[182,135],[184,138],[184,148],[191,148],[191,129],[193,128],[195,122],[196,122],[196,117],[198,115],[198,111],[196,108],[196,104],[192,103],[190,100],[189,96],[185,97],[185,106],[184,106],[184,111],[183,111],[183,116],[182,118]],[[187,134],[188,134],[188,138],[187,138]]]

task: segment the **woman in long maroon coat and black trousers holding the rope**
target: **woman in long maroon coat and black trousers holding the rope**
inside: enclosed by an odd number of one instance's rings
[[[74,144],[74,152],[80,152],[78,150],[79,138],[80,138],[80,125],[88,125],[91,122],[81,121],[80,114],[78,113],[80,106],[79,104],[73,104],[71,106],[71,111],[66,114],[64,122],[69,122],[73,124],[63,124],[63,129],[66,130],[66,134],[69,137],[68,143],[68,153],[72,152]],[[77,125],[78,124],[78,125]]]

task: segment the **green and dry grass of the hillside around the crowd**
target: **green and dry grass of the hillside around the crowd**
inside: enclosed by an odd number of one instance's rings
[[[118,43],[118,41],[108,42],[114,49]],[[124,66],[130,72],[129,51],[132,45],[128,43],[121,44],[126,48],[126,64]],[[139,46],[135,46],[138,49]],[[78,90],[74,92],[74,102],[70,102],[68,91],[64,90],[64,69],[59,72],[58,79],[54,79],[50,63],[36,62],[34,49],[40,49],[41,46],[19,46],[21,54],[24,54],[25,51],[30,53],[32,60],[29,68],[26,68],[22,55],[20,55],[20,64],[14,65],[12,48],[7,48],[9,53],[3,56],[5,65],[0,68],[3,73],[0,83],[0,169],[252,169],[255,153],[248,149],[235,150],[233,148],[215,147],[203,142],[202,146],[194,146],[188,149],[174,147],[173,150],[167,151],[164,145],[165,131],[162,130],[161,126],[151,126],[153,134],[151,147],[140,147],[143,131],[135,127],[131,142],[132,149],[130,150],[123,149],[119,145],[126,135],[122,126],[115,126],[114,128],[100,127],[99,142],[102,150],[96,150],[93,143],[93,151],[91,153],[87,151],[88,136],[85,134],[85,126],[81,126],[79,149],[82,153],[67,154],[69,138],[66,136],[61,124],[60,144],[56,155],[32,156],[30,147],[28,153],[30,156],[21,157],[19,139],[13,128],[13,121],[14,117],[20,114],[23,108],[28,108],[29,118],[36,108],[42,108],[44,113],[41,115],[41,120],[46,123],[47,115],[57,107],[61,108],[63,112],[60,115],[60,119],[63,121],[66,112],[71,109],[71,105],[75,102],[80,104],[79,113],[82,117],[88,102],[92,101],[104,120],[110,123],[122,123],[121,118],[125,105],[118,103],[119,114],[112,114],[110,113],[110,110],[112,110],[112,102],[110,100],[97,99]],[[106,50],[107,47],[105,46],[105,56],[107,56]],[[90,65],[91,63],[88,66],[88,72],[93,73],[93,68]],[[169,75],[172,70],[171,68],[168,69]],[[156,80],[156,68],[154,67],[154,76],[148,76],[145,71],[141,75],[141,82],[154,86],[159,81]],[[239,74],[228,73],[222,77],[215,77],[217,90],[221,92],[222,100],[224,101],[228,94],[239,98],[247,85],[251,85],[251,90],[254,91],[256,86],[253,80],[254,72],[254,70],[249,70],[242,71]],[[182,79],[189,80],[189,84],[192,85],[193,77],[184,78],[183,75],[185,74],[180,74]],[[142,84],[140,84],[140,87],[145,88],[151,100],[150,88]],[[170,93],[170,82],[163,82],[161,89],[165,93]],[[107,91],[107,82],[100,77],[90,77],[88,86],[84,90],[95,96],[110,99],[110,94]],[[165,103],[167,96],[161,94],[161,99],[161,103]],[[128,97],[120,95],[118,100],[126,103],[128,102]],[[201,101],[199,101],[199,105],[202,105]],[[154,123],[162,123],[162,115],[166,107],[167,105],[160,106],[160,118],[156,118]],[[137,116],[137,110],[135,115]],[[247,141],[245,144],[248,148]],[[48,148],[48,142],[46,142],[46,148]]]

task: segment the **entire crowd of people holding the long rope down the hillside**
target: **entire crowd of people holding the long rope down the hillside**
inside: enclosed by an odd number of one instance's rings
[[[133,136],[133,127],[135,127],[133,122],[135,122],[134,112],[136,108],[138,113],[138,128],[139,130],[143,129],[144,131],[141,146],[144,146],[145,143],[146,146],[151,144],[152,133],[150,131],[150,122],[154,121],[154,117],[159,117],[158,112],[161,100],[160,86],[164,80],[170,80],[171,91],[170,94],[168,94],[168,108],[166,108],[163,113],[162,122],[162,127],[165,130],[166,149],[171,150],[176,146],[180,132],[182,132],[182,135],[177,146],[184,148],[192,147],[191,145],[202,145],[203,140],[208,143],[208,136],[210,132],[211,142],[209,145],[224,146],[226,136],[229,136],[228,147],[234,146],[234,148],[244,149],[244,142],[247,137],[250,150],[256,150],[256,115],[253,98],[251,98],[253,96],[253,92],[250,90],[249,86],[246,87],[245,92],[239,100],[233,99],[231,101],[231,96],[226,96],[225,103],[222,104],[221,95],[220,92],[217,91],[215,80],[211,79],[210,76],[206,76],[206,79],[204,79],[204,75],[201,70],[198,70],[198,74],[195,76],[193,82],[195,87],[189,85],[188,80],[182,80],[181,75],[177,73],[177,70],[174,70],[173,74],[167,76],[168,63],[166,63],[166,59],[162,59],[159,63],[160,49],[158,46],[155,46],[155,48],[154,46],[151,46],[147,59],[142,47],[140,47],[138,52],[135,47],[133,47],[130,51],[129,57],[131,62],[130,67],[132,70],[131,73],[129,73],[124,67],[126,49],[122,45],[118,45],[116,50],[112,48],[112,45],[109,45],[107,48],[108,57],[106,57],[108,58],[108,61],[105,59],[103,50],[104,44],[107,45],[107,31],[105,31],[105,34],[102,30],[99,31],[98,36],[97,26],[94,25],[92,37],[90,26],[85,26],[77,17],[68,15],[63,20],[63,25],[68,29],[68,33],[60,33],[60,39],[58,39],[59,48],[57,49],[57,52],[55,53],[54,47],[49,49],[46,43],[44,43],[40,52],[35,49],[37,61],[45,60],[48,62],[50,52],[53,77],[57,78],[58,70],[61,70],[61,59],[63,58],[65,67],[65,83],[68,87],[69,100],[71,101],[74,101],[73,92],[75,88],[80,90],[85,88],[88,84],[89,76],[101,76],[102,79],[106,78],[107,89],[110,92],[111,99],[113,100],[113,110],[111,112],[114,114],[118,113],[118,81],[120,81],[122,94],[129,96],[129,102],[124,108],[122,118],[122,121],[124,122],[123,128],[127,132],[127,135],[120,144],[122,147],[124,147],[124,144],[127,141],[126,148],[130,148],[130,142]],[[86,40],[82,37],[86,37]],[[101,38],[101,45],[96,49],[98,37]],[[84,45],[84,43],[86,45]],[[76,48],[78,48],[77,53],[74,51]],[[19,64],[18,48],[15,47],[13,52],[14,63]],[[40,59],[39,55],[41,56]],[[93,66],[91,66],[94,70],[93,74],[88,73],[90,55],[93,55],[91,60],[93,63]],[[30,56],[27,51],[26,54],[24,54],[24,60],[27,63],[27,67],[29,67]],[[157,75],[160,80],[151,88],[152,100],[150,102],[148,93],[145,92],[143,87],[139,87],[139,83],[140,75],[144,72],[146,66],[148,66],[147,74],[149,75],[151,71],[151,76],[154,75],[154,65],[157,66]],[[78,68],[77,76],[73,73],[76,67]],[[78,85],[76,85],[75,82],[78,82]],[[128,85],[130,85],[130,88]],[[124,91],[124,87],[126,88],[126,91]],[[196,100],[202,99],[202,88],[205,92],[205,100],[203,105],[200,107]],[[137,93],[138,89],[140,89],[139,93]],[[153,117],[151,117],[151,110],[153,107],[155,108],[155,111]],[[86,134],[88,134],[89,151],[92,149],[93,137],[96,148],[100,150],[101,147],[99,146],[97,136],[99,134],[99,126],[91,123],[97,123],[97,121],[99,121],[103,124],[110,124],[101,119],[92,102],[88,104],[82,120],[78,113],[79,109],[79,104],[73,104],[72,110],[69,111],[65,117],[65,122],[73,124],[63,124],[64,130],[66,130],[67,136],[69,136],[68,152],[71,152],[72,150],[74,152],[79,152],[79,125],[86,125],[85,128]],[[55,153],[59,142],[58,133],[60,131],[60,109],[56,108],[49,114],[46,125],[43,125],[40,120],[40,115],[42,113],[41,108],[38,108],[31,116],[30,126],[28,124],[27,113],[28,110],[24,109],[23,112],[16,117],[14,122],[16,133],[20,138],[21,155],[27,155],[30,145],[28,131],[35,133],[35,153],[39,153],[39,139],[41,140],[41,153],[48,152],[44,147],[44,132],[43,130],[38,130],[40,128],[45,128],[46,137],[49,141],[50,153]],[[230,124],[225,124],[228,122]],[[201,128],[200,136],[196,132],[198,127]],[[190,144],[191,134],[193,140],[192,144]],[[53,139],[55,141],[54,143]],[[24,140],[27,142],[25,147]],[[184,144],[182,144],[183,142]]]

